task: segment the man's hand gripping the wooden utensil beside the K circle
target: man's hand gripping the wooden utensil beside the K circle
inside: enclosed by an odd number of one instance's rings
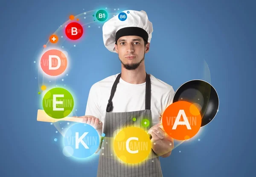
[[[102,135],[102,121],[100,121],[99,118],[96,118],[92,115],[83,115],[83,116],[80,116],[80,117],[73,116],[73,117],[81,118],[81,123],[89,124],[89,125],[93,126],[93,128],[96,129],[98,134],[100,136]]]

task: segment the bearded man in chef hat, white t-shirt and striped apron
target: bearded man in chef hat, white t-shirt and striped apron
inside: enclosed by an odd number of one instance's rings
[[[111,149],[101,149],[97,177],[162,177],[158,156],[168,157],[174,143],[164,131],[161,117],[175,92],[172,86],[145,71],[145,53],[149,51],[153,32],[147,14],[145,11],[124,12],[126,20],[115,16],[102,28],[106,48],[119,56],[121,73],[93,84],[85,116],[80,118],[92,125],[99,135],[104,132],[106,137],[113,138],[117,129],[133,124],[134,115],[137,121],[146,115],[150,121],[147,130],[152,137],[152,158],[135,169],[106,157],[104,154],[111,154]]]

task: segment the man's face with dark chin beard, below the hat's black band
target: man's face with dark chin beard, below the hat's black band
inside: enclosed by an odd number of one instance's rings
[[[127,70],[135,70],[144,61],[145,53],[149,51],[149,43],[144,44],[142,37],[123,36],[115,45],[116,53]]]

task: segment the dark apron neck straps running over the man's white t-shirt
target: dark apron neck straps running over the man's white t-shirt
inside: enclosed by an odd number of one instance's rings
[[[116,80],[114,81],[114,84],[112,86],[111,89],[111,94],[110,94],[110,98],[108,100],[108,105],[107,105],[107,112],[111,112],[113,110],[113,103],[112,103],[112,99],[113,96],[116,92],[116,87],[117,84],[119,83],[121,77],[121,73],[116,77]],[[151,108],[151,83],[150,83],[150,77],[149,74],[146,73],[146,93],[145,93],[145,110],[150,110]]]

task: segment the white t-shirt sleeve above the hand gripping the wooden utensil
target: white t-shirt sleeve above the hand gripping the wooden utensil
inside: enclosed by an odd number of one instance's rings
[[[99,93],[95,84],[90,88],[85,115],[93,115],[101,120],[101,112],[99,109]]]

